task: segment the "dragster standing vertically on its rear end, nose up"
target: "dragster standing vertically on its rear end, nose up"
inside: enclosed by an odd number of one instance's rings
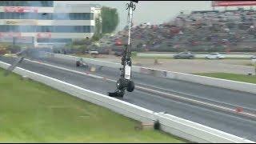
[[[123,51],[122,51],[122,68],[120,68],[121,75],[118,79],[116,86],[117,90],[115,90],[113,93],[109,92],[110,97],[123,97],[125,94],[125,91],[128,92],[134,91],[135,85],[132,81],[131,76],[131,45],[130,45],[130,30],[132,26],[132,17],[133,17],[133,11],[135,10],[135,4],[134,2],[138,3],[138,1],[130,1],[130,3],[126,3],[126,10],[128,10],[128,42],[127,45],[125,45]]]

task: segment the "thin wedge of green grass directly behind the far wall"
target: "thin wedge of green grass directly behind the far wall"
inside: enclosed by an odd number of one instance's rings
[[[233,80],[233,81],[238,81],[238,82],[249,82],[249,83],[256,84],[256,76],[255,75],[227,74],[227,73],[202,73],[202,74],[197,74],[197,75],[213,77],[213,78],[228,79],[228,80]]]

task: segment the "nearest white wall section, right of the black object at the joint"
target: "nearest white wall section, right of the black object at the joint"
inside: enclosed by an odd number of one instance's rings
[[[216,130],[208,126],[203,126],[199,123],[191,122],[186,119],[175,117],[170,114],[156,114],[158,121],[161,123],[161,129],[177,135],[182,138],[190,139],[191,142],[214,142],[214,143],[230,143],[230,142],[245,142],[251,141],[245,138],[239,138],[232,134],[227,134],[221,130]],[[189,133],[188,133],[189,132]],[[193,134],[192,134],[193,133]]]

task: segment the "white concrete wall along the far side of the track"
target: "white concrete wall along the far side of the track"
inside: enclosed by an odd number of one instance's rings
[[[51,55],[51,57],[54,57],[54,58],[63,58],[66,60],[76,61],[80,59],[80,57],[64,55],[64,54],[49,53],[48,55]],[[120,63],[116,63],[116,62],[104,62],[104,61],[95,60],[91,58],[82,58],[82,59],[84,62],[88,62],[88,63],[99,65],[99,66],[111,67],[115,69],[118,69],[122,66]],[[202,85],[216,86],[216,87],[226,88],[230,90],[239,90],[243,92],[256,94],[256,84],[252,84],[248,82],[237,82],[237,81],[231,81],[231,80],[226,80],[221,78],[210,78],[210,77],[199,76],[194,74],[184,74],[184,73],[172,72],[167,70],[157,70],[157,69],[152,69],[152,68],[142,67],[142,66],[132,66],[132,71],[141,73],[141,74],[154,75],[156,77],[177,79],[177,80],[182,80],[186,82],[194,82]]]

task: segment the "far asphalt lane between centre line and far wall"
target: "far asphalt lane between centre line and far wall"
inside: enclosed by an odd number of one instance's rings
[[[41,62],[52,64],[54,66],[61,66],[70,70],[90,73],[90,71],[84,67],[76,67],[75,62],[72,61],[67,61],[59,58],[40,58],[38,60]],[[95,74],[104,78],[117,80],[120,72],[118,70],[114,70],[108,67],[103,67],[102,70],[96,71]],[[150,86],[172,94],[182,94],[186,97],[204,99],[210,102],[218,102],[219,104],[222,103],[223,105],[229,104],[233,107],[238,106],[242,107],[244,110],[250,110],[251,112],[254,112],[254,110],[256,110],[255,94],[236,90],[227,90],[214,86],[205,86],[192,82],[183,82],[169,78],[156,78],[154,76],[138,74],[134,72],[132,73],[132,75],[134,78],[134,82],[143,86]]]

